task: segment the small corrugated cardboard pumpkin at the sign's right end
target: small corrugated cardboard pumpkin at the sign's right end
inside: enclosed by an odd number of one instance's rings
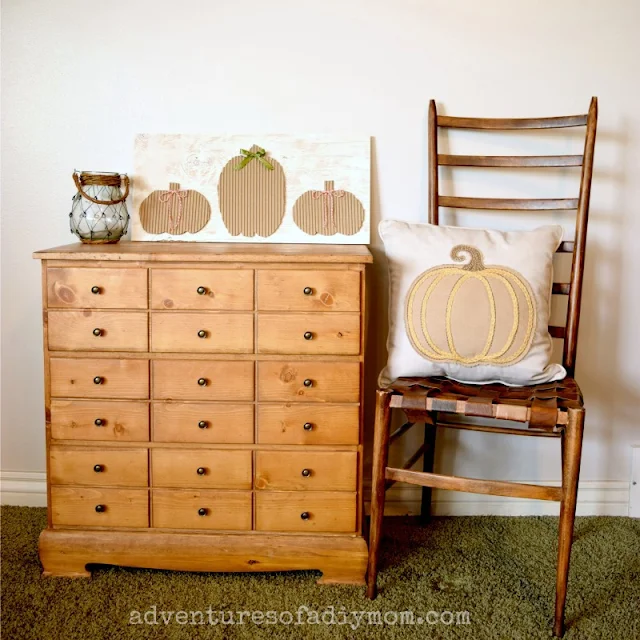
[[[352,193],[334,189],[334,181],[327,180],[323,191],[306,191],[296,200],[293,221],[310,236],[352,236],[362,229],[364,207]]]

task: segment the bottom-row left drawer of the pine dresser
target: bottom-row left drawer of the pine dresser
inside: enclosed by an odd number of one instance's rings
[[[51,519],[54,526],[148,527],[149,492],[51,487]]]

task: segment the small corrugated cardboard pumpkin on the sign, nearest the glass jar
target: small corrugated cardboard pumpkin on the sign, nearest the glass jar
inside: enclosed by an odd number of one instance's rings
[[[198,191],[171,182],[167,191],[153,191],[140,205],[140,224],[147,233],[197,233],[211,219],[211,205]]]

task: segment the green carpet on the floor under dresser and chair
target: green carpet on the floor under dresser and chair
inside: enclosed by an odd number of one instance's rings
[[[2,507],[2,638],[550,638],[556,525],[550,517],[465,517],[438,518],[422,528],[392,518],[385,524],[380,595],[371,602],[363,587],[316,585],[319,574],[311,571],[249,575],[100,567],[91,580],[43,579],[37,540],[45,510]],[[640,521],[578,518],[565,637],[640,638],[639,603]],[[334,624],[318,624],[306,610],[299,614],[301,606]],[[162,611],[166,618],[166,612],[180,610],[187,613],[163,622]],[[158,624],[131,624],[132,611],[140,620],[146,613],[151,622],[155,611]],[[209,615],[215,621],[218,611],[258,613],[255,622],[234,614],[233,625],[210,625]],[[367,613],[359,624],[350,616],[349,626],[341,624],[345,611]],[[414,624],[401,624],[403,611],[414,612]],[[451,624],[447,613],[441,620],[431,614],[428,620],[437,624],[418,624],[430,611],[468,611],[469,624]],[[375,612],[384,616],[383,624]],[[276,616],[280,622],[272,624]]]

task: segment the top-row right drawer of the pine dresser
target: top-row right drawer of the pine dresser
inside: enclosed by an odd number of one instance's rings
[[[260,311],[360,311],[360,272],[260,270]]]

